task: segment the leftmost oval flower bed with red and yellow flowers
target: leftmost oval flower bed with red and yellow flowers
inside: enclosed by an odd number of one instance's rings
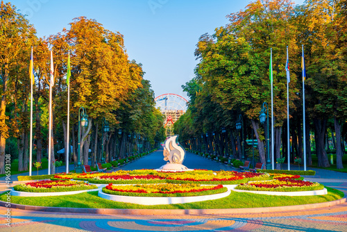
[[[19,192],[70,192],[78,190],[96,189],[96,185],[90,185],[83,181],[36,181],[21,183],[13,187]]]

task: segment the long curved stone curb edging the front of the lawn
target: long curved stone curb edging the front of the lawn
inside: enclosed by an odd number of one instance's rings
[[[347,202],[346,196],[336,201],[328,201],[316,204],[306,204],[298,206],[278,206],[268,208],[220,208],[220,209],[116,209],[116,208],[58,208],[44,206],[25,206],[19,204],[11,204],[10,208],[21,210],[35,210],[44,212],[59,212],[59,213],[90,213],[100,215],[224,215],[235,213],[273,213],[284,211],[308,210],[314,208],[323,208],[337,206]],[[0,206],[5,207],[8,204],[5,201],[0,201]]]

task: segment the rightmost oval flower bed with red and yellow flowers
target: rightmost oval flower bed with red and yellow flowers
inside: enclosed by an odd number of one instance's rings
[[[324,185],[311,181],[298,181],[294,179],[280,179],[272,181],[252,181],[240,183],[236,190],[271,191],[271,192],[299,192],[323,190]]]

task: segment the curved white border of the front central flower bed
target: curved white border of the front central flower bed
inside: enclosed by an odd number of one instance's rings
[[[191,203],[196,201],[215,200],[215,199],[220,199],[223,197],[228,197],[230,192],[231,191],[228,188],[228,191],[226,192],[205,195],[205,196],[195,196],[195,197],[130,197],[130,196],[107,194],[103,192],[103,190],[101,189],[99,190],[98,196],[110,201],[120,201],[120,202],[132,203],[132,204],[153,206],[153,205],[167,205],[167,204],[185,204],[185,203]]]

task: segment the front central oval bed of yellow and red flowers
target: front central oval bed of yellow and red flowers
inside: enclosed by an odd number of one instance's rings
[[[192,197],[217,194],[228,191],[223,185],[188,184],[144,184],[144,185],[112,185],[103,188],[107,194],[133,197]]]

